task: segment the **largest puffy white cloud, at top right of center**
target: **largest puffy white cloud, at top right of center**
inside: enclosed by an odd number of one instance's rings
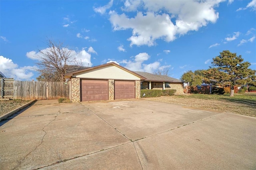
[[[152,46],[156,45],[156,39],[174,41],[188,31],[198,31],[209,22],[215,23],[218,12],[214,7],[222,1],[126,0],[122,9],[138,11],[136,16],[130,18],[124,13],[110,11],[110,22],[114,31],[132,29],[132,36],[128,38],[130,46]],[[146,12],[141,12],[142,9]]]

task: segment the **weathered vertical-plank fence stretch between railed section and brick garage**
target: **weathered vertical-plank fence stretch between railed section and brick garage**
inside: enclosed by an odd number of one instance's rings
[[[51,100],[69,98],[70,82],[14,80],[14,99]]]

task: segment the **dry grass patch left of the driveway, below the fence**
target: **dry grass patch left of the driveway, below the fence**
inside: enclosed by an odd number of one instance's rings
[[[0,115],[8,113],[9,111],[16,109],[30,100],[0,100]]]

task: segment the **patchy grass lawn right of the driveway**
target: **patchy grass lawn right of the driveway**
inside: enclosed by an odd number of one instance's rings
[[[214,94],[188,94],[145,99],[256,117],[256,94],[254,93],[235,94],[234,97]]]

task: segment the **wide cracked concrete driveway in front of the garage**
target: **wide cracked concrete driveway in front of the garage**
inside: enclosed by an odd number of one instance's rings
[[[148,100],[38,101],[0,122],[0,169],[256,169],[256,118]]]

